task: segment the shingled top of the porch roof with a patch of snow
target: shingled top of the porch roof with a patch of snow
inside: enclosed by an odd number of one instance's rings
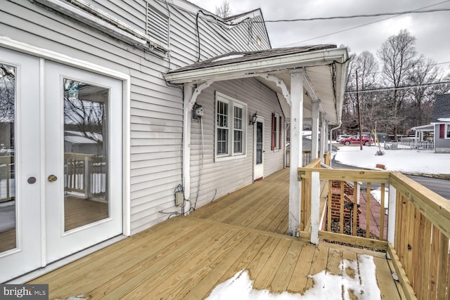
[[[230,65],[232,63],[243,63],[250,60],[259,60],[264,58],[275,58],[277,56],[289,56],[290,54],[304,53],[310,51],[325,50],[329,48],[337,48],[336,45],[323,44],[290,48],[272,48],[262,51],[237,52],[232,51],[221,56],[216,56],[207,60],[203,60],[186,67],[172,70],[170,73],[183,72],[187,70],[198,70],[207,67],[216,67],[219,65]]]

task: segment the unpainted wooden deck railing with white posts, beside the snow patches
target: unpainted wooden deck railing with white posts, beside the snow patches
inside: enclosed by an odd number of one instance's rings
[[[450,299],[450,201],[398,172],[327,169],[319,159],[299,178],[301,237],[385,250],[408,299]],[[320,181],[328,184],[323,214]]]

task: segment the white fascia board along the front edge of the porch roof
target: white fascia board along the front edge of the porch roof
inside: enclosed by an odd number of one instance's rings
[[[198,81],[221,81],[243,77],[255,77],[266,72],[279,72],[293,70],[314,65],[328,65],[345,62],[347,48],[331,48],[321,51],[297,53],[290,56],[278,56],[275,58],[262,58],[228,65],[205,67],[196,70],[171,72],[164,77],[172,84],[184,84]]]

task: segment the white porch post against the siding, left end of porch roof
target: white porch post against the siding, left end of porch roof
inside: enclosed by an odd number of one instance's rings
[[[183,189],[184,199],[191,198],[191,105],[193,84],[184,84],[183,95]]]

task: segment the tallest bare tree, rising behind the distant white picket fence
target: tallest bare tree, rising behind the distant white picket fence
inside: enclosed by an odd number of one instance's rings
[[[392,110],[392,133],[397,139],[398,127],[401,122],[399,111],[406,97],[406,91],[397,89],[407,84],[414,67],[422,57],[417,56],[416,37],[408,30],[401,30],[399,34],[389,37],[378,50],[382,67],[384,84],[393,86],[394,92],[390,95],[390,109]]]

